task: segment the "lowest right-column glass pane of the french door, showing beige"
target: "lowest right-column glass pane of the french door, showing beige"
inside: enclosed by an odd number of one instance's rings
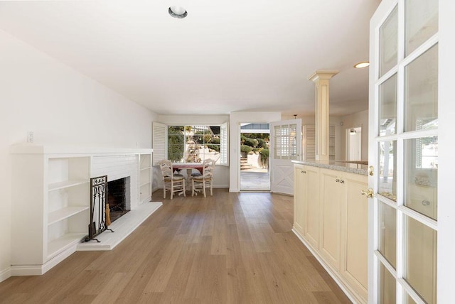
[[[436,303],[437,232],[405,217],[405,280],[427,303]]]

